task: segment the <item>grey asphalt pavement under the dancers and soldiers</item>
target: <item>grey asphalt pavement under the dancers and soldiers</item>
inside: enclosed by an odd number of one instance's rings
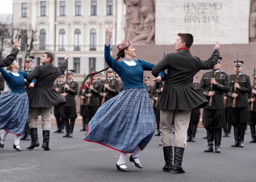
[[[244,148],[233,148],[234,133],[222,137],[221,153],[204,153],[205,129],[197,129],[196,141],[188,142],[183,157],[186,173],[164,172],[160,137],[154,136],[139,156],[143,169],[126,160],[131,172],[116,169],[119,152],[83,140],[85,131],[75,126],[73,138],[50,133],[50,151],[42,150],[42,128],[38,126],[40,146],[26,150],[30,141],[21,141],[23,151],[13,149],[14,134],[8,134],[0,148],[0,182],[256,182],[256,143],[245,134]],[[3,131],[0,131],[2,135]]]

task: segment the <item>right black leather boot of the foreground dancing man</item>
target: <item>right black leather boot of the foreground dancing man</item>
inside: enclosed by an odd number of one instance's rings
[[[173,171],[178,173],[185,173],[182,168],[182,158],[185,148],[175,146],[174,147],[174,165]]]

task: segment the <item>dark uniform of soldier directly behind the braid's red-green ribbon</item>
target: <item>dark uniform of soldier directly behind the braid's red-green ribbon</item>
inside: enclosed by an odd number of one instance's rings
[[[86,119],[88,124],[92,117],[95,115],[97,110],[99,109],[99,95],[100,90],[102,90],[102,84],[100,82],[97,82],[96,80],[93,80],[92,82],[93,90],[90,90],[88,87],[85,87],[85,111],[86,111]],[[92,94],[90,97],[90,103],[88,103],[88,94]]]

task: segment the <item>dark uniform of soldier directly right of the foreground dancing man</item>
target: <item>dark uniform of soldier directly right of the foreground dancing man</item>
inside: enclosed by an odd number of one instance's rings
[[[221,62],[218,60],[217,63]],[[213,85],[212,107],[209,103],[203,109],[202,124],[207,131],[208,146],[204,152],[213,152],[213,141],[215,153],[220,153],[222,128],[225,126],[225,102],[224,93],[229,90],[228,74],[220,70],[214,70],[216,85]],[[204,73],[200,82],[199,92],[209,101],[208,96],[211,89],[211,71]]]

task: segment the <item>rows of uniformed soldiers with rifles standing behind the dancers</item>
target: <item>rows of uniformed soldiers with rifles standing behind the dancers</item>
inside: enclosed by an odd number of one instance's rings
[[[26,58],[26,72],[32,71],[33,56]],[[238,82],[235,82],[236,73],[228,75],[220,71],[221,60],[218,60],[214,66],[214,77],[212,72],[203,74],[200,83],[197,82],[195,75],[193,86],[198,90],[208,101],[212,96],[211,106],[204,107],[202,114],[202,124],[207,131],[208,146],[204,152],[220,153],[222,128],[225,137],[230,136],[231,128],[234,128],[235,143],[232,147],[244,146],[244,134],[249,124],[251,128],[252,139],[250,143],[256,143],[255,125],[256,125],[256,104],[253,105],[251,110],[251,103],[255,102],[256,91],[252,89],[250,77],[242,73],[244,61],[238,61]],[[234,61],[234,68],[236,71],[237,61]],[[168,70],[165,70],[166,74]],[[87,124],[97,112],[97,109],[102,105],[102,100],[112,99],[123,90],[123,83],[120,77],[111,69],[107,71],[107,82],[102,80],[102,74],[99,73],[93,77],[92,86],[90,89],[78,86],[78,83],[73,80],[74,70],[67,72],[67,84],[64,82],[65,75],[61,75],[54,85],[54,89],[66,97],[66,104],[63,106],[54,107],[54,116],[57,121],[57,131],[54,133],[65,133],[63,137],[73,137],[74,123],[77,118],[76,100],[75,96],[78,95],[80,101],[80,115],[83,117],[83,128],[80,131],[87,130]],[[150,77],[145,77],[144,84],[147,88],[150,98],[152,99],[153,109],[156,115],[157,133],[160,136],[159,123],[160,123],[160,109],[159,98],[163,92],[164,82],[155,83],[154,86],[149,85]],[[256,79],[254,79],[256,86]],[[211,87],[212,85],[212,87]],[[0,85],[1,87],[1,85]],[[25,83],[25,89],[28,93],[28,83]],[[235,90],[237,89],[237,92]],[[236,105],[233,106],[234,98],[236,97]],[[194,109],[191,113],[190,124],[187,130],[187,141],[195,141],[195,133],[197,124],[200,120],[200,110]],[[173,126],[174,127],[174,126]],[[24,134],[21,139],[31,139],[28,126],[24,129]],[[214,143],[213,143],[214,142]],[[160,144],[161,145],[161,144]]]

